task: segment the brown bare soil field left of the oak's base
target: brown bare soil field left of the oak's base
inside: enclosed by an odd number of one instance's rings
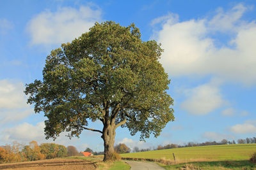
[[[96,162],[82,159],[48,159],[48,160],[36,160],[29,162],[18,162],[12,164],[0,164],[0,169],[84,169],[92,170],[96,169]]]

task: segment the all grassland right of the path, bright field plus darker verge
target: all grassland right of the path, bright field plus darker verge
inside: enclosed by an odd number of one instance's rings
[[[164,160],[165,169],[256,169],[249,161],[256,144],[214,145],[125,153],[121,157]],[[173,153],[176,161],[173,160]],[[157,161],[158,162],[158,161]],[[161,162],[161,161],[160,161]]]

